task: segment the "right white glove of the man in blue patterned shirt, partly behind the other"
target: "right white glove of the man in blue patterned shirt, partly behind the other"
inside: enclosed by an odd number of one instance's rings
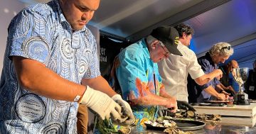
[[[134,123],[135,118],[132,113],[132,108],[129,106],[127,101],[124,101],[119,94],[115,94],[112,96],[112,99],[117,102],[122,107],[122,116],[121,118],[117,118],[117,120],[113,120],[113,123],[117,125],[131,125]]]

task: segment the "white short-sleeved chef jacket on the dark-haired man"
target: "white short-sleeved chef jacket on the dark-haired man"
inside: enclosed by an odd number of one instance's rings
[[[158,62],[159,73],[166,91],[178,101],[188,101],[187,77],[192,79],[203,76],[204,72],[198,64],[195,52],[186,45],[178,43],[178,50],[183,56],[172,55]]]

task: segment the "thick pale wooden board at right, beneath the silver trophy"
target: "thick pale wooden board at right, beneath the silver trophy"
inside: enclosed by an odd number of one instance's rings
[[[220,114],[221,116],[254,117],[256,113],[256,103],[250,105],[234,106],[193,106],[196,113]]]

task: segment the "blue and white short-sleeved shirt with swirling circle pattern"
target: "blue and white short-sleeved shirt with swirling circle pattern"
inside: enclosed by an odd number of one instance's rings
[[[64,79],[100,75],[90,30],[73,30],[58,4],[23,9],[9,25],[0,86],[0,133],[76,133],[78,103],[33,94],[18,84],[12,56],[33,59]],[[40,76],[35,76],[40,77]]]

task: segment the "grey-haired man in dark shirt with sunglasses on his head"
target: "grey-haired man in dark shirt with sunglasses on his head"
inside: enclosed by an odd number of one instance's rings
[[[233,48],[228,43],[217,43],[210,48],[209,52],[205,56],[198,58],[198,63],[201,65],[203,72],[206,74],[213,72],[214,69],[218,68],[220,62],[224,63],[228,60],[230,55],[233,55]],[[189,82],[194,82],[190,80]],[[191,90],[196,89],[198,92],[197,102],[203,102],[206,100],[228,99],[228,93],[220,86],[220,81],[214,78],[210,82],[204,85],[194,84],[195,86],[188,86]],[[217,87],[217,88],[216,88]],[[218,89],[217,91],[215,89]]]

